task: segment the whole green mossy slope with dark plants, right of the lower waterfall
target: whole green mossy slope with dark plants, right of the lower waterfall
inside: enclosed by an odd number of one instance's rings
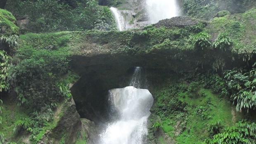
[[[210,136],[210,123],[222,119],[223,126],[232,126],[245,117],[235,111],[235,106],[228,98],[203,88],[200,80],[197,80],[198,88],[194,88],[192,83],[178,81],[167,82],[152,90],[155,99],[152,113],[158,116],[163,125],[162,130],[175,140],[176,144],[201,144]],[[194,88],[192,91],[191,87]],[[158,140],[166,142],[161,137],[158,137]]]

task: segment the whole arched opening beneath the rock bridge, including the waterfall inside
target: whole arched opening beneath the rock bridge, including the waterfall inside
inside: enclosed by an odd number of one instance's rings
[[[100,126],[97,143],[143,142],[154,101],[144,73],[141,67],[93,69],[73,85],[71,93],[81,118]]]

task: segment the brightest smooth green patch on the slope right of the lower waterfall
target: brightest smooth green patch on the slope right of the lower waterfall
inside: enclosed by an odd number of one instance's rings
[[[189,97],[187,92],[179,94],[178,99],[189,105],[189,121],[186,130],[176,138],[177,144],[201,144],[206,137],[209,137],[207,130],[209,123],[223,119],[223,125],[230,126],[242,118],[242,114],[236,112],[235,107],[228,100],[218,97],[209,89],[201,89],[199,93],[202,94],[203,92],[206,95],[205,97]],[[205,106],[207,110],[203,113],[210,118],[202,118],[202,116],[195,113],[196,106]]]

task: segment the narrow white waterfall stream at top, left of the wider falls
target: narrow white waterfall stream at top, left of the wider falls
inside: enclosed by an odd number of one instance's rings
[[[115,20],[116,20],[116,26],[119,31],[126,30],[126,23],[123,19],[123,16],[121,15],[121,12],[119,12],[118,9],[115,7],[110,7],[111,12],[114,14]]]

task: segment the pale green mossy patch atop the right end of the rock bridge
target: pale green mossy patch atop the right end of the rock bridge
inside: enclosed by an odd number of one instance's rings
[[[217,38],[219,33],[228,33],[233,41],[233,45],[230,47],[232,53],[240,55],[243,59],[250,59],[251,54],[256,52],[255,25],[256,8],[253,8],[244,14],[214,18],[209,21],[206,32],[211,34],[212,41]]]

